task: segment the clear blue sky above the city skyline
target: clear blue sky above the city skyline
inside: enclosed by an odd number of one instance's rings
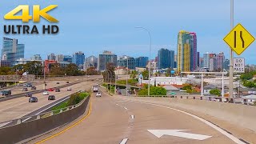
[[[256,37],[256,1],[234,1],[234,24],[242,23]],[[50,14],[59,20],[59,34],[3,35],[3,25],[21,24],[4,20],[4,14],[24,4],[42,7],[57,4],[58,9]],[[148,56],[148,35],[134,26],[150,30],[152,57],[162,47],[176,53],[179,30],[197,33],[201,53],[223,51],[227,58],[230,57],[230,48],[222,40],[230,31],[230,0],[8,0],[1,2],[0,10],[0,37],[18,38],[25,43],[26,58],[33,54],[46,58],[52,52],[73,54],[79,50],[86,57],[98,56],[103,50],[118,55]],[[41,18],[39,26],[43,24],[50,23]],[[253,43],[240,57],[245,57],[246,63],[256,64],[255,52],[256,44]]]

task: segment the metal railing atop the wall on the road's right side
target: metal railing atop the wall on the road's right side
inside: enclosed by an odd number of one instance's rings
[[[194,95],[130,95],[133,97],[158,97],[158,98],[181,98],[181,99],[194,99],[194,100],[205,100],[212,102],[228,102],[234,104],[250,105],[254,106],[256,98],[222,98],[213,96],[194,96]]]

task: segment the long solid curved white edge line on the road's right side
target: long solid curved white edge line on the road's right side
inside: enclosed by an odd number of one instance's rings
[[[138,102],[138,101],[134,101],[134,100],[130,100],[130,102]],[[225,130],[222,130],[221,128],[219,128],[218,126],[215,126],[214,124],[212,124],[211,122],[208,122],[206,121],[205,119],[203,118],[199,118],[198,116],[194,115],[194,114],[190,114],[190,113],[187,113],[186,111],[182,111],[182,110],[178,110],[178,109],[174,109],[174,108],[171,108],[171,107],[168,107],[168,106],[161,106],[161,105],[158,105],[158,104],[154,104],[154,103],[148,103],[148,102],[139,102],[139,103],[143,103],[143,104],[147,104],[147,105],[152,105],[152,106],[159,106],[159,107],[164,107],[166,109],[170,109],[170,110],[176,110],[178,112],[181,112],[183,114],[187,114],[187,115],[190,115],[191,117],[193,118],[196,118],[198,119],[199,121],[201,122],[204,122],[206,125],[214,128],[215,130],[218,130],[218,132],[226,135],[227,138],[230,138],[232,141],[238,143],[238,144],[246,144],[245,142],[242,142],[241,140],[239,140],[238,138],[234,137],[232,134],[229,134],[227,133]]]

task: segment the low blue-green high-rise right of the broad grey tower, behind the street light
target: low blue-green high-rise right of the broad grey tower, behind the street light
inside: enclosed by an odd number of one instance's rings
[[[127,63],[128,60],[128,63]],[[135,59],[129,56],[122,56],[118,58],[118,67],[127,67],[128,64],[128,69],[130,70],[135,70]]]

